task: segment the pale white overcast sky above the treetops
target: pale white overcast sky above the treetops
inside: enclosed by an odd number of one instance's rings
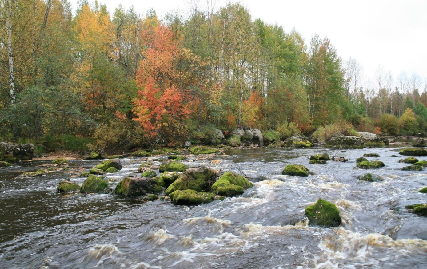
[[[193,0],[122,0],[125,8],[133,5],[137,12],[145,14],[155,9],[158,17],[170,11],[187,12]],[[211,1],[211,0],[209,0]],[[216,9],[225,0],[212,0]],[[73,10],[78,0],[71,0]],[[93,2],[93,1],[89,1]],[[237,1],[232,1],[237,2]],[[267,23],[277,23],[289,32],[295,28],[307,45],[317,33],[328,37],[343,60],[352,57],[364,68],[366,77],[374,76],[374,70],[382,64],[394,78],[405,71],[408,76],[417,73],[422,84],[427,78],[427,1],[278,1],[241,0],[249,9],[252,19],[261,18]],[[118,5],[116,0],[99,0],[112,14]],[[206,5],[206,0],[199,0]]]

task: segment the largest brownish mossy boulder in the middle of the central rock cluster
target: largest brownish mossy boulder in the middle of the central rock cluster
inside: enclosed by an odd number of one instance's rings
[[[198,192],[210,191],[218,173],[207,167],[192,167],[184,171],[165,190],[165,195],[175,190],[196,190]]]

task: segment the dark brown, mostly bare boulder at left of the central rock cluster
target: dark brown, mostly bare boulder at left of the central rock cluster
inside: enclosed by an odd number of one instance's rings
[[[144,196],[147,193],[160,193],[163,187],[154,178],[123,178],[114,193],[122,196]]]

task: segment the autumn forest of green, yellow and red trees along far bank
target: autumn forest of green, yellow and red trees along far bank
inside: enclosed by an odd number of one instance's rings
[[[203,144],[215,128],[260,129],[267,141],[339,126],[427,128],[421,77],[378,65],[366,79],[328,38],[306,44],[240,3],[158,18],[97,2],[73,14],[67,0],[0,0],[0,21],[2,141],[114,151]]]

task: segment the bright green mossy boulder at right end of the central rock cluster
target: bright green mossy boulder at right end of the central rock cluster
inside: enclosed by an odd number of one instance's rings
[[[243,194],[243,190],[252,187],[252,183],[242,175],[226,172],[211,187],[211,191],[220,196]]]

